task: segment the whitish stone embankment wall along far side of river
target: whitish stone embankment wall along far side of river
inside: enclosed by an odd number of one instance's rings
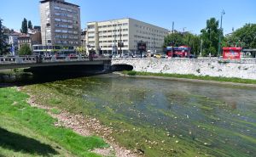
[[[113,59],[112,64],[130,64],[143,72],[256,79],[256,59]]]

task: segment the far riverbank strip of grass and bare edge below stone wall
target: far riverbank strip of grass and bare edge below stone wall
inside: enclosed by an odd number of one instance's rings
[[[137,78],[153,78],[171,81],[190,81],[202,82],[218,85],[239,86],[239,87],[256,87],[256,80],[227,78],[227,77],[212,77],[212,76],[194,76],[194,75],[179,75],[179,74],[163,74],[137,71],[122,71],[114,72],[121,76],[131,76]]]

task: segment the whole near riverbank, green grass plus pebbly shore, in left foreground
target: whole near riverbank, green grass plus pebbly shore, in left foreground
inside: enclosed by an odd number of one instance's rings
[[[0,156],[133,156],[96,137],[88,126],[110,131],[96,119],[38,105],[20,90],[0,88]]]

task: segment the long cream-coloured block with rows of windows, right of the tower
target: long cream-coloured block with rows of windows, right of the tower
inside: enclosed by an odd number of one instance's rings
[[[146,42],[147,49],[161,52],[168,30],[131,18],[87,23],[87,44],[99,53],[116,53],[123,42],[122,53],[136,53],[137,42]]]

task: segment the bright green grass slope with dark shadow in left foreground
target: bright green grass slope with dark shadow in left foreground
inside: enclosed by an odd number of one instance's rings
[[[55,127],[56,120],[44,109],[26,104],[26,98],[15,88],[0,89],[0,156],[96,157],[91,149],[108,147],[100,137],[82,137]],[[57,109],[52,112],[59,113]]]

